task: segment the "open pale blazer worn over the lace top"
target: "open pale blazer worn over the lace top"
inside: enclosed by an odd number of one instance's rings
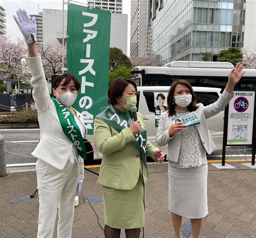
[[[208,130],[206,119],[218,114],[221,110],[223,110],[233,96],[234,94],[229,94],[226,90],[224,90],[223,94],[220,95],[216,102],[208,106],[204,106],[202,103],[197,104],[199,107],[196,110],[196,113],[199,117],[200,124],[196,125],[196,128],[199,132],[199,136],[203,142],[204,148],[209,155],[214,150],[215,144],[213,143],[210,131]],[[164,146],[168,143],[168,153],[166,159],[177,163],[179,159],[181,133],[178,132],[172,137],[169,136],[168,130],[172,125],[172,118],[176,116],[169,116],[168,113],[168,111],[161,113],[156,143],[159,146]]]

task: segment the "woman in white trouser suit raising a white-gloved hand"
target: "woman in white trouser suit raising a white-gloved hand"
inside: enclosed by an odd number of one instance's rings
[[[40,141],[32,152],[32,155],[38,158],[37,237],[52,237],[57,209],[57,236],[71,237],[75,195],[82,188],[83,158],[86,157],[83,143],[86,128],[83,116],[71,107],[80,85],[72,74],[59,75],[53,89],[55,97],[50,98],[41,56],[37,53],[35,17],[30,20],[28,13],[19,9],[17,17],[14,18],[28,44],[25,60],[32,75],[33,99],[40,127]]]

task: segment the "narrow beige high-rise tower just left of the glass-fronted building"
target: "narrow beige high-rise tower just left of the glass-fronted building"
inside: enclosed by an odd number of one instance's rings
[[[131,0],[130,57],[147,56],[147,0]]]

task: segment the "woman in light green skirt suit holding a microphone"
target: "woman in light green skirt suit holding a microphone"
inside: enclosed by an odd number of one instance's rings
[[[144,186],[147,182],[146,155],[163,163],[164,153],[146,137],[142,115],[132,119],[137,103],[136,84],[126,78],[109,87],[111,106],[95,118],[95,143],[102,153],[98,183],[103,187],[105,237],[139,237],[144,227]]]

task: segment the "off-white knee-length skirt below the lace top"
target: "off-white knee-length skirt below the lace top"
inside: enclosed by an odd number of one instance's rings
[[[169,166],[169,209],[186,218],[204,218],[207,207],[207,164],[178,169]]]

